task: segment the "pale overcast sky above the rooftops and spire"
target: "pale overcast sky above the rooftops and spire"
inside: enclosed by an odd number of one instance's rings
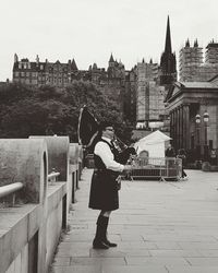
[[[131,69],[159,63],[170,16],[172,50],[186,38],[218,41],[217,0],[5,0],[0,16],[0,81],[12,79],[13,57],[107,68],[110,54]]]

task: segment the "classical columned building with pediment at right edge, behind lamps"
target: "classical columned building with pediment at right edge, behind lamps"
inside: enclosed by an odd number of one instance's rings
[[[209,161],[218,151],[218,84],[175,82],[166,97],[170,136],[175,151],[185,149],[189,159]]]

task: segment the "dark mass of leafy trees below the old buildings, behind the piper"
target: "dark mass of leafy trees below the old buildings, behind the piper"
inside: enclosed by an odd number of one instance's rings
[[[121,118],[119,102],[108,97],[95,84],[75,81],[68,87],[28,87],[9,84],[0,87],[1,138],[29,135],[69,135],[77,142],[80,109],[87,105],[98,121],[112,121],[124,139],[129,133]]]

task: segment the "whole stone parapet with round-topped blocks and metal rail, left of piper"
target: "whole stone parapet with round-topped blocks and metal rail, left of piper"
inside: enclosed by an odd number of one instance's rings
[[[0,273],[48,272],[82,163],[82,147],[68,136],[0,140]],[[7,197],[5,187],[13,188]]]

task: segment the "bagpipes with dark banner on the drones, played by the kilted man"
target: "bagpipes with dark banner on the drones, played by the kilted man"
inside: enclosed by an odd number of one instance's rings
[[[95,144],[101,138],[99,131],[99,122],[88,111],[87,106],[83,106],[78,117],[78,143],[92,153]],[[116,161],[121,164],[132,164],[134,157],[136,156],[135,149],[124,144],[118,136],[114,136],[112,143],[118,151]]]

